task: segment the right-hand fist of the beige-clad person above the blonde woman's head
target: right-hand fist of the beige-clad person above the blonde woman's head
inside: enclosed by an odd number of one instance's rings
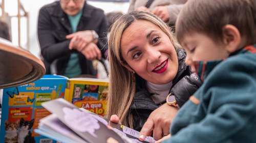
[[[170,17],[166,6],[158,6],[151,13],[161,18],[164,22],[167,22]]]

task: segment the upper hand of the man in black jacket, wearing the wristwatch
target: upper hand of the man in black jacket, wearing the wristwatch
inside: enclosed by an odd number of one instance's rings
[[[83,49],[89,43],[93,42],[93,34],[91,30],[79,31],[66,36],[67,39],[71,39],[69,43],[69,49]]]

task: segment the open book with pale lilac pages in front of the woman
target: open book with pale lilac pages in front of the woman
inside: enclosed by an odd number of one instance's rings
[[[78,108],[64,99],[42,103],[52,114],[40,120],[35,132],[61,142],[141,142],[139,132],[83,108]],[[147,136],[143,142],[155,142]]]

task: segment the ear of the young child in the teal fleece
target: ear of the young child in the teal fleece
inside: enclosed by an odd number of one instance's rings
[[[226,50],[229,53],[237,51],[241,42],[241,35],[239,30],[233,25],[225,25],[222,28],[222,33]]]

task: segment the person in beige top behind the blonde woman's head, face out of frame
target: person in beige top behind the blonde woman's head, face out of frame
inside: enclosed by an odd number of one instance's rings
[[[187,0],[130,0],[128,12],[134,10],[151,12],[173,27],[186,2]]]

